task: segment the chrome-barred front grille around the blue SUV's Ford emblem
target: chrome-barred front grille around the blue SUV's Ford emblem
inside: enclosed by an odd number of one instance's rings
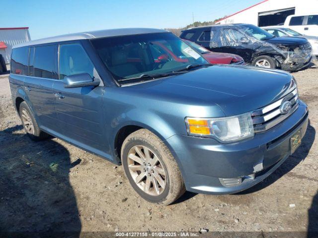
[[[292,104],[291,110],[287,114],[281,114],[280,106],[282,103],[289,101]],[[252,112],[252,120],[254,126],[254,132],[261,132],[272,128],[279,122],[288,118],[298,108],[298,93],[295,88],[291,93],[278,101],[267,105],[264,108],[255,110]]]

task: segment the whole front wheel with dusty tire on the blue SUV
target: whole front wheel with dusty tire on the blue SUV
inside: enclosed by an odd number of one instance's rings
[[[127,179],[145,200],[169,205],[185,192],[181,172],[170,150],[149,130],[140,129],[127,136],[121,160]]]

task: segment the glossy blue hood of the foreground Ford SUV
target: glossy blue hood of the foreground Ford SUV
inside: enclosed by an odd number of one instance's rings
[[[234,116],[281,98],[289,90],[291,80],[292,76],[281,70],[214,65],[131,87],[164,101],[217,105],[226,116]]]

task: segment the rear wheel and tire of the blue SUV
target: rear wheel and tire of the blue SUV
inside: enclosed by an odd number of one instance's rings
[[[36,122],[34,115],[26,102],[22,102],[20,104],[19,115],[23,124],[24,131],[31,140],[40,141],[48,138],[49,134],[40,130],[39,125]]]

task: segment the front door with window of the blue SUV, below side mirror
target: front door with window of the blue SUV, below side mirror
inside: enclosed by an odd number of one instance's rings
[[[64,88],[66,76],[88,73],[99,75],[80,43],[59,46],[59,78],[54,81],[53,95],[59,119],[59,133],[66,140],[89,151],[103,154],[103,113],[102,95],[104,86]]]

